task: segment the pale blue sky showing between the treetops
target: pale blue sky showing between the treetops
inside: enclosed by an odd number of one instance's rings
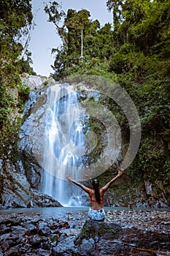
[[[50,67],[54,63],[54,56],[51,54],[51,50],[61,45],[61,39],[56,33],[55,25],[47,22],[48,15],[44,11],[43,0],[32,0],[31,4],[34,23],[36,24],[31,31],[31,40],[28,45],[33,61],[31,67],[33,67],[37,75],[48,77],[50,73],[54,72]],[[68,9],[76,11],[88,10],[90,19],[97,19],[101,26],[104,26],[105,23],[112,23],[112,12],[107,10],[107,0],[62,0],[58,1],[58,4],[61,4],[65,13]]]

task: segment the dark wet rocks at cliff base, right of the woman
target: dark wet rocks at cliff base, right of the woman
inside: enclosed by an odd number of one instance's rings
[[[155,181],[152,184],[149,181],[142,181],[133,187],[130,178],[126,174],[123,175],[121,184],[127,187],[109,189],[108,194],[104,195],[104,206],[129,207],[131,205],[134,208],[155,209],[170,207],[170,189],[163,187],[162,181]]]

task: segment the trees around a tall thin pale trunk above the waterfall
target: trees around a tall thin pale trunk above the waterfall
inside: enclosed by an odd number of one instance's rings
[[[76,12],[69,9],[65,14],[59,11],[60,7],[57,2],[53,1],[50,4],[51,6],[45,7],[45,12],[49,15],[49,21],[55,24],[63,40],[61,48],[53,49],[53,53],[57,53],[52,66],[55,71],[53,78],[58,80],[71,72],[76,72],[82,65],[85,65],[86,61],[103,56],[100,49],[106,39],[102,36],[102,32],[98,34],[100,23],[98,20],[90,20],[88,10]],[[62,18],[64,19],[61,25]],[[110,29],[110,25],[105,31],[103,30],[105,36],[108,28]]]

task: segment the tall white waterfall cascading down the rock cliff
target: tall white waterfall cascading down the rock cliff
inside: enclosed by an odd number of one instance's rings
[[[42,192],[63,206],[81,206],[82,189],[65,177],[80,177],[85,154],[84,118],[85,111],[73,86],[62,84],[48,89]]]

